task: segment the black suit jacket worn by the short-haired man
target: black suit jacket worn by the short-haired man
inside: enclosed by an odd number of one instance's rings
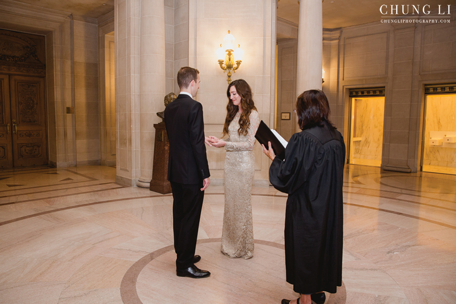
[[[208,178],[201,103],[179,94],[165,108],[165,127],[169,138],[168,180],[198,184]]]

